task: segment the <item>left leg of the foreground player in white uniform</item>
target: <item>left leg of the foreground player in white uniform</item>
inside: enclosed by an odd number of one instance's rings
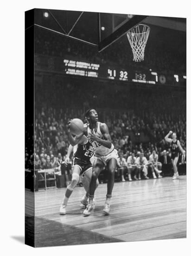
[[[104,168],[104,163],[101,159],[95,158],[93,163],[93,172],[91,177],[91,182],[89,185],[89,204],[87,208],[83,211],[84,216],[89,216],[93,210],[93,199],[96,190],[97,177],[99,176],[101,170]]]

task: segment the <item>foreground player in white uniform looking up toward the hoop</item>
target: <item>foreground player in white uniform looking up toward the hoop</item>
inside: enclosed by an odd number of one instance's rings
[[[96,148],[96,151],[93,163],[93,173],[89,187],[89,204],[83,214],[85,216],[89,216],[93,211],[93,198],[96,190],[96,180],[105,166],[107,166],[108,169],[108,184],[103,211],[105,214],[109,214],[118,153],[111,142],[108,126],[105,123],[98,121],[98,115],[95,109],[90,108],[86,112],[86,120],[89,123],[86,133],[93,147]]]

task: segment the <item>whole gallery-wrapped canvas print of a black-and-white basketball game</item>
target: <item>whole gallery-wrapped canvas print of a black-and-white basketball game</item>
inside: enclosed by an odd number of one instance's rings
[[[186,19],[26,11],[25,243],[185,237]]]

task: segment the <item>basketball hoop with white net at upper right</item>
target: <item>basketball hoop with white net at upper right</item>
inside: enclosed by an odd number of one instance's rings
[[[146,42],[150,33],[150,27],[139,24],[127,32],[127,38],[131,45],[134,61],[144,61]]]

